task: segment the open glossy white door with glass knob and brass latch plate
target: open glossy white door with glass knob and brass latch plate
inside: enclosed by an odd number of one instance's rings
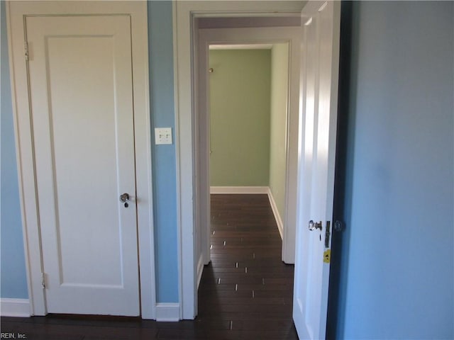
[[[299,339],[325,339],[332,232],[340,1],[301,11],[301,120],[293,317]],[[313,220],[309,230],[309,221]],[[328,237],[327,237],[328,236]]]

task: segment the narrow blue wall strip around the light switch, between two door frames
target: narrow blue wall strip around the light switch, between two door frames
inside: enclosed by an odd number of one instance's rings
[[[148,37],[152,140],[155,127],[172,128],[174,140],[152,150],[157,302],[178,302],[172,1],[148,1]]]

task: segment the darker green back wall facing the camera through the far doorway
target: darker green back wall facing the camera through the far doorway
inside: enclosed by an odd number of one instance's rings
[[[271,50],[211,50],[211,186],[268,186]]]

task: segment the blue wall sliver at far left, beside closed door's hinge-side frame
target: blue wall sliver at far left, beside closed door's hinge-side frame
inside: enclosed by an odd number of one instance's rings
[[[21,205],[19,200],[16,143],[14,140],[11,84],[5,1],[0,1],[1,16],[1,291],[0,297],[27,298],[26,264],[23,253]]]

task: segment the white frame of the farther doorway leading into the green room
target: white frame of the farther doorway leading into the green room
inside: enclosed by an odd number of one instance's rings
[[[196,216],[201,225],[201,251],[204,263],[210,261],[210,215],[209,215],[209,98],[206,90],[209,84],[209,45],[249,45],[249,44],[276,44],[287,43],[289,46],[288,74],[287,74],[287,108],[286,108],[286,128],[285,128],[285,154],[286,154],[286,174],[285,174],[285,210],[282,215],[283,225],[282,237],[282,261],[284,263],[294,263],[295,255],[295,234],[297,219],[297,162],[298,162],[298,117],[299,117],[299,65],[301,64],[301,27],[261,27],[261,28],[204,28],[199,29],[199,54],[198,77],[196,78],[196,90],[199,105],[196,108],[195,117],[197,131],[199,135],[195,147],[199,149],[196,155],[196,162],[201,169],[198,170],[200,176],[199,193],[196,194]],[[200,196],[204,196],[200,198]],[[200,220],[199,220],[200,218]],[[204,232],[206,230],[206,232]],[[200,262],[198,261],[198,277],[201,276]]]

